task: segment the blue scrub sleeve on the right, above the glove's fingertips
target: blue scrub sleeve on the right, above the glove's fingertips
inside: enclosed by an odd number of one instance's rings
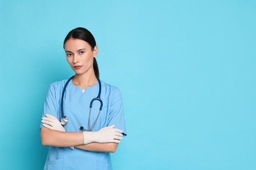
[[[114,128],[121,129],[126,136],[125,117],[123,114],[123,99],[118,88],[112,88],[112,97],[110,104],[110,115],[108,117],[108,126],[115,125]]]

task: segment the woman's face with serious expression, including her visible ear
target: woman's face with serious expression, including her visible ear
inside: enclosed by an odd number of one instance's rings
[[[88,42],[81,39],[69,39],[64,44],[64,49],[67,61],[76,75],[85,73],[94,74],[93,58],[97,55],[97,46],[91,50],[91,46]]]

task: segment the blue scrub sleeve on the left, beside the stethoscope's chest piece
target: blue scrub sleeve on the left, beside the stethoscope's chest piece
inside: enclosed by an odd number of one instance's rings
[[[51,114],[58,118],[58,112],[57,112],[57,102],[56,102],[56,91],[51,84],[48,88],[47,95],[45,97],[45,103],[43,105],[43,114],[42,118],[45,117],[46,114]],[[43,127],[43,124],[41,122],[40,124],[40,129]]]

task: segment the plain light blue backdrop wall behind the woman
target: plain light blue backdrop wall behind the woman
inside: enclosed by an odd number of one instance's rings
[[[95,35],[100,77],[121,90],[128,135],[114,169],[256,169],[255,1],[1,1],[0,169],[43,169],[62,48]]]

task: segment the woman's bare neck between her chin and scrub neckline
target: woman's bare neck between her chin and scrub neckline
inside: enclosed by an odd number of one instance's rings
[[[82,89],[93,86],[97,81],[94,71],[93,73],[84,73],[83,75],[75,74],[72,80],[75,86],[80,86]]]

